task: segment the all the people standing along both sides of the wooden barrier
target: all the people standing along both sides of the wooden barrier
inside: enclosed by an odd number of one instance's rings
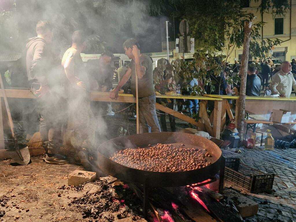
[[[26,45],[26,66],[28,84],[31,91],[37,97],[35,100],[24,104],[23,121],[28,135],[34,133],[30,127],[40,115],[39,131],[42,146],[45,150],[43,157],[46,163],[65,164],[68,160],[59,155],[59,142],[61,129],[70,132],[71,145],[76,150],[77,156],[85,166],[89,165],[89,151],[94,146],[97,115],[112,114],[110,102],[90,101],[90,91],[110,91],[110,98],[116,99],[120,89],[130,88],[133,96],[136,96],[136,78],[138,81],[139,120],[140,133],[160,132],[160,124],[157,119],[155,108],[156,101],[170,109],[174,109],[173,99],[156,99],[155,92],[165,94],[176,90],[174,72],[166,59],[159,59],[157,67],[153,70],[151,57],[140,53],[140,45],[136,39],[130,38],[123,43],[125,54],[131,59],[130,64],[124,63],[118,68],[118,86],[112,90],[113,69],[110,62],[113,54],[106,52],[99,60],[89,60],[86,67],[81,59],[81,52],[85,46],[86,35],[77,30],[72,36],[72,46],[66,50],[62,59],[54,56],[50,46],[52,42],[53,26],[48,21],[39,21],[36,26],[37,36],[28,39]],[[232,74],[238,74],[240,65],[235,61],[233,67],[226,64],[225,72],[220,77],[213,77],[217,83],[214,85],[214,94],[232,94],[234,86],[226,83],[226,72],[232,70]],[[292,88],[296,89],[296,62],[292,64],[284,61],[281,65],[270,66],[268,61],[262,61],[261,71],[258,73],[254,63],[248,65],[247,72],[247,96],[259,96],[261,87],[267,89],[268,80],[271,79],[269,89],[271,94],[279,94],[288,97]],[[160,81],[155,83],[155,75],[160,76]],[[294,76],[293,76],[294,75]],[[218,78],[218,80],[217,80]],[[183,80],[182,80],[183,81]],[[182,87],[182,82],[180,82]],[[198,86],[199,82],[193,78],[188,89]],[[202,83],[201,83],[202,84]],[[239,84],[236,85],[239,88]],[[111,91],[112,90],[112,91]],[[208,90],[208,89],[205,89]],[[183,90],[186,94],[186,90]],[[187,92],[190,94],[190,92]],[[184,103],[189,108],[190,114],[198,110],[198,100],[177,99],[178,111],[182,112]],[[27,108],[26,108],[27,107]],[[163,131],[167,131],[165,112],[160,111],[160,120]],[[172,131],[176,131],[175,118],[169,115]]]

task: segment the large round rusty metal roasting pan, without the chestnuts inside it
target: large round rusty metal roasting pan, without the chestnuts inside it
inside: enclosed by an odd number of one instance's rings
[[[182,172],[153,172],[130,168],[110,160],[115,151],[126,148],[137,148],[157,143],[184,143],[207,149],[212,156],[212,164],[205,168]],[[98,167],[121,181],[148,186],[185,186],[199,183],[214,177],[220,170],[222,152],[212,141],[188,133],[142,133],[118,137],[98,147]]]

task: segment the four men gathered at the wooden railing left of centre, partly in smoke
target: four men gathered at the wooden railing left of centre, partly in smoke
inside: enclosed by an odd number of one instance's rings
[[[59,155],[61,129],[70,134],[70,142],[78,159],[89,168],[90,152],[94,147],[96,131],[95,116],[102,116],[112,108],[110,102],[90,101],[90,91],[107,92],[112,89],[114,71],[110,66],[113,54],[101,54],[98,60],[89,60],[86,66],[81,59],[86,35],[77,30],[72,36],[72,46],[66,50],[62,59],[54,56],[50,46],[53,26],[48,21],[39,21],[36,26],[37,37],[27,43],[26,66],[28,84],[37,100],[31,100],[24,118],[28,128],[31,119],[40,115],[39,131],[44,147],[44,161],[52,164],[65,164],[68,160]],[[128,82],[131,92],[136,96],[136,76],[139,86],[140,132],[160,132],[160,124],[155,109],[155,88],[153,85],[153,61],[140,53],[136,39],[130,38],[123,44],[126,55],[131,59],[129,66],[123,64],[118,70],[118,86],[110,92],[116,99],[118,91]],[[109,111],[108,111],[109,110]],[[33,113],[33,111],[35,113]],[[36,117],[36,115],[35,115]],[[29,135],[29,134],[28,134]]]

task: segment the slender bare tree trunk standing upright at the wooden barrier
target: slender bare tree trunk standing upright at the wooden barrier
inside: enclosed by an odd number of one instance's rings
[[[237,115],[237,128],[239,131],[240,139],[243,139],[244,130],[244,116],[245,116],[245,102],[246,102],[246,85],[247,85],[247,70],[249,61],[249,48],[250,48],[250,33],[252,22],[244,22],[244,48],[242,53],[242,65],[239,70],[241,76],[241,86],[239,90],[239,99],[237,100],[238,113]]]

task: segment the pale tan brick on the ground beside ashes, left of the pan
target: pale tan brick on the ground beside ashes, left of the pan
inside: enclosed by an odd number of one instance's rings
[[[68,185],[78,186],[85,182],[95,181],[96,173],[84,170],[74,170],[68,176]]]

